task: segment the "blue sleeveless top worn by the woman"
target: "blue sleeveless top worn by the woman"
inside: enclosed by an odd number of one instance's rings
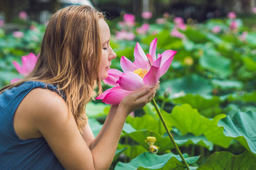
[[[22,140],[13,125],[14,112],[34,88],[60,92],[43,82],[25,82],[0,95],[0,169],[64,169],[43,137]]]

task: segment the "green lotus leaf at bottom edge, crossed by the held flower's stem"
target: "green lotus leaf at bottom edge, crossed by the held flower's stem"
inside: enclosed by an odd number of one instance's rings
[[[185,161],[188,164],[192,164],[199,159],[199,156],[193,156],[188,158],[187,154],[183,154]],[[121,169],[184,169],[184,165],[181,162],[180,156],[175,154],[156,155],[150,152],[144,152],[137,158],[131,160],[130,163],[121,163],[115,166],[115,170]]]

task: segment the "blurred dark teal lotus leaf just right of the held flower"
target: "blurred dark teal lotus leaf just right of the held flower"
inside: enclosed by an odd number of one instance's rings
[[[184,91],[185,94],[208,95],[213,89],[212,85],[209,83],[209,80],[196,74],[183,76],[182,78],[161,83],[160,93],[163,94],[168,87],[172,88],[172,94],[170,96],[171,98],[175,93],[179,93],[180,91]]]

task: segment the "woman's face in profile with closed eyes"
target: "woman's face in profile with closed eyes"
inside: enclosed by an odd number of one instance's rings
[[[108,77],[108,70],[110,69],[111,60],[117,57],[113,49],[110,47],[110,30],[109,25],[104,19],[98,21],[100,27],[100,39],[102,46],[101,62],[100,62],[100,79],[104,80]]]

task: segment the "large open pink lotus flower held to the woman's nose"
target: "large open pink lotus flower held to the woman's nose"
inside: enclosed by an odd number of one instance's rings
[[[149,54],[146,55],[137,42],[134,49],[135,62],[122,56],[120,64],[124,73],[117,69],[110,69],[108,78],[104,82],[115,87],[106,90],[96,99],[102,99],[106,104],[117,105],[123,97],[135,91],[154,87],[159,78],[169,69],[177,53],[174,50],[166,50],[156,58],[156,44],[157,38],[151,42]]]

